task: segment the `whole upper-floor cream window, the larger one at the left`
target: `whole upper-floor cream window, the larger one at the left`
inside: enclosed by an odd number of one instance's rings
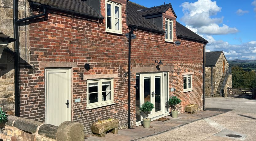
[[[106,1],[106,32],[122,34],[121,5]]]

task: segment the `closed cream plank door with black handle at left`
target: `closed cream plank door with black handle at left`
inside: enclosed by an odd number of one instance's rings
[[[59,126],[71,121],[71,69],[45,70],[46,123]]]

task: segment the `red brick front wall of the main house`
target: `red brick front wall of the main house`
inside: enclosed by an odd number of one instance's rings
[[[105,1],[101,2],[101,11],[105,17]],[[81,102],[72,105],[72,119],[80,122],[85,133],[91,133],[91,124],[98,119],[118,118],[121,127],[127,127],[127,93],[128,77],[123,73],[128,70],[128,41],[124,35],[105,32],[105,19],[97,23],[97,19],[89,17],[71,17],[72,14],[60,11],[48,11],[45,21],[33,21],[29,25],[30,64],[33,69],[21,69],[21,117],[45,122],[45,68],[39,66],[43,62],[77,62],[72,68],[73,102],[81,98]],[[175,23],[175,22],[174,22]],[[163,23],[164,25],[164,23]],[[175,25],[174,25],[175,27]],[[175,33],[174,29],[174,33]],[[122,32],[128,33],[126,25],[126,5],[122,5]],[[158,33],[136,30],[132,40],[132,67],[156,66],[154,60],[161,58],[164,66],[173,66],[170,72],[170,88],[175,92],[170,96],[181,98],[180,112],[184,106],[196,103],[202,106],[202,64],[203,44],[179,39],[180,46],[165,42],[165,36]],[[177,40],[174,36],[174,41]],[[85,63],[92,67],[87,71]],[[63,66],[64,67],[64,66]],[[86,109],[87,81],[81,80],[79,74],[113,74],[115,105],[98,109]],[[180,73],[178,76],[177,73]],[[183,92],[183,72],[194,72],[193,91]],[[131,121],[135,125],[135,74],[131,75]],[[78,117],[81,115],[81,117]]]

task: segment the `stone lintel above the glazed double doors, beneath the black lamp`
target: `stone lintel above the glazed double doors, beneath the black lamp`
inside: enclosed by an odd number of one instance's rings
[[[162,71],[172,71],[173,66],[159,66],[157,68],[157,65],[153,67],[132,67],[131,72],[136,73],[143,73],[143,72],[162,72]]]

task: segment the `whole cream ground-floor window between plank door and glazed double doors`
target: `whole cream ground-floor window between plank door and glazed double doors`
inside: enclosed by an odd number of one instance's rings
[[[87,81],[87,109],[114,104],[113,79]]]

